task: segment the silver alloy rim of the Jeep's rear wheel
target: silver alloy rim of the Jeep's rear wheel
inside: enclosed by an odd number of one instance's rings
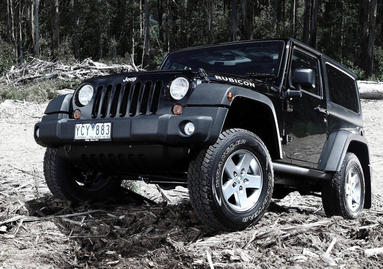
[[[349,170],[349,174],[346,178],[346,202],[349,209],[355,212],[359,208],[360,204],[360,177],[357,170],[353,167]]]

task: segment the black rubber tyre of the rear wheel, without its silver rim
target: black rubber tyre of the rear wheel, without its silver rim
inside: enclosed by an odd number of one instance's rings
[[[347,205],[345,196],[346,176],[351,168],[357,170],[360,177],[360,204],[355,212]],[[330,181],[322,184],[322,204],[328,217],[342,216],[345,219],[359,218],[362,214],[365,199],[365,183],[362,166],[354,153],[347,152],[339,172]]]

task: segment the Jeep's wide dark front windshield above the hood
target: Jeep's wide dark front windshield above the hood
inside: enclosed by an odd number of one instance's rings
[[[283,46],[283,41],[255,41],[172,52],[161,70],[203,68],[206,72],[278,77]]]

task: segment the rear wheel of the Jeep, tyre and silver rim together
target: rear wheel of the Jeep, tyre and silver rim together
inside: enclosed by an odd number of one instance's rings
[[[329,217],[358,218],[362,214],[364,197],[362,166],[354,153],[347,152],[340,171],[322,185],[324,211]]]

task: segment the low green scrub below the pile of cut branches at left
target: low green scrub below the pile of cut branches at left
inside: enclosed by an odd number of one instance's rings
[[[0,101],[5,99],[25,100],[29,102],[44,103],[57,96],[57,90],[75,89],[81,80],[46,80],[27,84],[25,86],[13,86],[0,84]]]

